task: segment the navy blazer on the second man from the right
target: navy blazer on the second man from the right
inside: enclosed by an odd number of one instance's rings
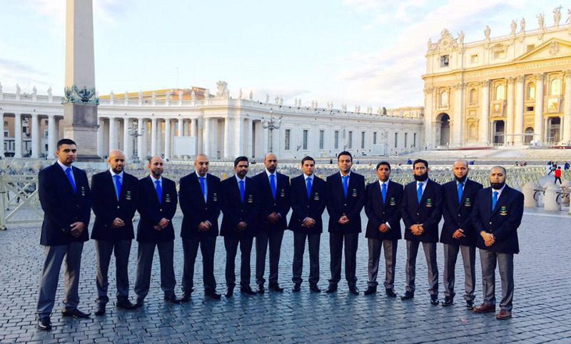
[[[472,226],[472,211],[477,192],[482,188],[482,184],[467,179],[464,184],[462,199],[458,203],[458,183],[456,180],[443,184],[442,215],[444,225],[440,232],[440,243],[455,246],[476,246],[476,235]],[[465,238],[455,239],[452,237],[458,228],[463,229]]]

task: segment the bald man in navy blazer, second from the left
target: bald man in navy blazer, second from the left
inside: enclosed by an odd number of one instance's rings
[[[94,228],[91,238],[95,241],[97,260],[97,309],[95,315],[105,314],[109,301],[108,270],[111,255],[115,253],[115,275],[117,280],[117,308],[133,309],[129,301],[128,263],[131,253],[133,216],[138,204],[138,179],[123,171],[125,153],[119,150],[109,152],[109,169],[91,177],[94,198]]]

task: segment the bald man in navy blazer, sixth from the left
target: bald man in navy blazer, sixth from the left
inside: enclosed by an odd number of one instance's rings
[[[286,216],[290,211],[290,178],[276,171],[278,157],[273,153],[266,154],[263,160],[266,170],[253,176],[260,193],[260,226],[256,234],[256,284],[258,293],[264,292],[263,278],[266,270],[266,253],[268,242],[270,246],[270,275],[271,290],[283,292],[278,283],[278,266],[280,264],[281,242],[283,231],[288,226]]]

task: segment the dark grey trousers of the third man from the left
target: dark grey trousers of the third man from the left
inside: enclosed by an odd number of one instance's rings
[[[163,243],[138,242],[137,277],[135,280],[135,293],[137,300],[144,300],[151,287],[151,268],[155,248],[158,248],[158,259],[161,262],[161,289],[165,296],[173,297],[176,279],[174,277],[174,241]]]

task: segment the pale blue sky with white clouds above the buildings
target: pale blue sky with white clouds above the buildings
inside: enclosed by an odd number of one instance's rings
[[[301,98],[334,108],[423,106],[428,39],[443,29],[465,42],[536,29],[541,0],[93,0],[99,94],[210,88],[226,81],[254,99]],[[66,0],[0,0],[4,92],[50,86],[62,95]],[[562,8],[562,21],[567,7]],[[519,29],[518,29],[519,31]]]

